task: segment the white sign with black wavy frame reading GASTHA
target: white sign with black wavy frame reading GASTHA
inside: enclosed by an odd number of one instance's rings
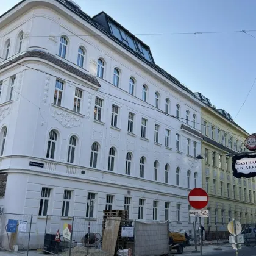
[[[256,155],[235,155],[232,157],[233,176],[236,178],[256,177]]]

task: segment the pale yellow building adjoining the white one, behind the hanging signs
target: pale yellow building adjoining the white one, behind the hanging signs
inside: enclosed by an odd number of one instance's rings
[[[215,223],[227,224],[232,218],[241,223],[256,223],[255,179],[233,177],[232,157],[244,150],[249,135],[224,110],[214,106],[202,108],[202,186],[208,192],[204,219],[205,230],[215,229]],[[219,226],[219,225],[218,225]]]

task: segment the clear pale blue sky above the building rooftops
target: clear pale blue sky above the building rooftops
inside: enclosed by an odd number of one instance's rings
[[[90,16],[104,10],[148,44],[157,65],[191,91],[204,94],[216,108],[226,110],[247,132],[256,132],[256,83],[252,87],[256,79],[256,1],[74,1]],[[1,0],[0,13],[18,2]],[[239,32],[242,30],[255,32],[248,35]],[[157,35],[216,31],[238,32]]]

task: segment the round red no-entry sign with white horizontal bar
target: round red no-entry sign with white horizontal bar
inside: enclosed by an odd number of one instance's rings
[[[188,202],[190,203],[191,207],[201,210],[204,208],[209,201],[208,194],[202,188],[194,188],[188,194]]]

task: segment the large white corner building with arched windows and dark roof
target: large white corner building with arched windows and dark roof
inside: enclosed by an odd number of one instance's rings
[[[77,10],[25,0],[0,18],[0,205],[33,214],[32,233],[46,215],[88,218],[90,199],[91,218],[127,208],[186,229],[188,192],[202,187],[202,103],[124,28],[134,49],[107,34],[105,13]]]

